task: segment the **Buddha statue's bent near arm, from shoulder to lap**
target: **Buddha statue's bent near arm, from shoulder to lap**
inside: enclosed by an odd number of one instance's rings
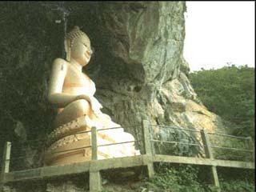
[[[62,86],[64,79],[66,77],[67,71],[66,63],[57,58],[54,60],[51,76],[50,76],[50,86],[48,92],[48,100],[57,105],[58,107],[65,107],[70,102],[74,102],[78,99],[86,99],[90,102],[90,98],[87,95],[74,95],[74,94],[63,94]]]

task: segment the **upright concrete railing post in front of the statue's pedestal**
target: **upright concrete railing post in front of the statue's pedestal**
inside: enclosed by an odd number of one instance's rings
[[[102,190],[101,174],[97,170],[98,160],[98,142],[97,128],[91,128],[91,167],[90,167],[90,192],[99,192]],[[95,163],[96,162],[96,163]]]

